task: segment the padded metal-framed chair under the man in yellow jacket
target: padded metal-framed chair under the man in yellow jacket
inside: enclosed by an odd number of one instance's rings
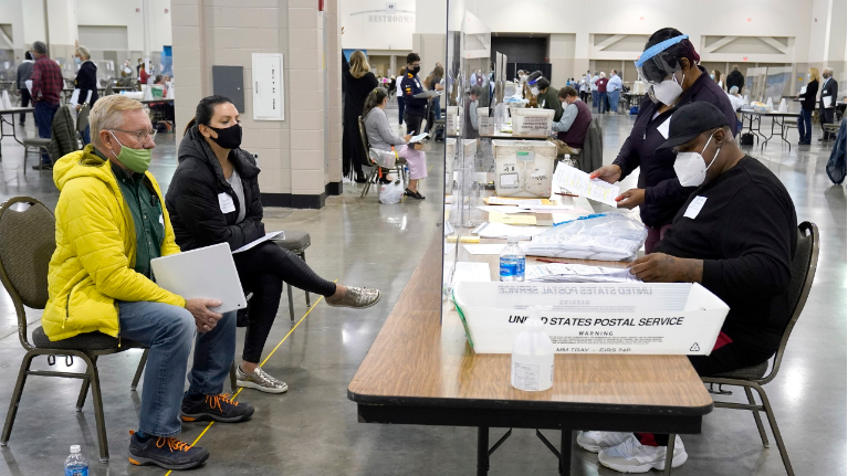
[[[6,416],[0,445],[6,446],[12,433],[14,416],[21,403],[27,377],[62,377],[82,379],[76,411],[81,412],[88,388],[94,399],[94,420],[97,429],[101,461],[109,458],[106,441],[106,423],[103,416],[97,358],[109,353],[123,352],[140,346],[127,339],[118,339],[101,332],[51,341],[44,329],[36,327],[32,331],[32,342],[27,335],[27,314],[24,306],[44,309],[48,303],[48,265],[56,247],[55,219],[53,213],[40,201],[29,197],[15,197],[0,205],[0,281],[9,293],[18,315],[18,337],[27,350],[18,373],[18,381],[12,392],[9,413]],[[30,370],[32,359],[48,356],[48,362],[55,362],[56,356],[71,356],[85,362],[85,372],[60,372]]]

